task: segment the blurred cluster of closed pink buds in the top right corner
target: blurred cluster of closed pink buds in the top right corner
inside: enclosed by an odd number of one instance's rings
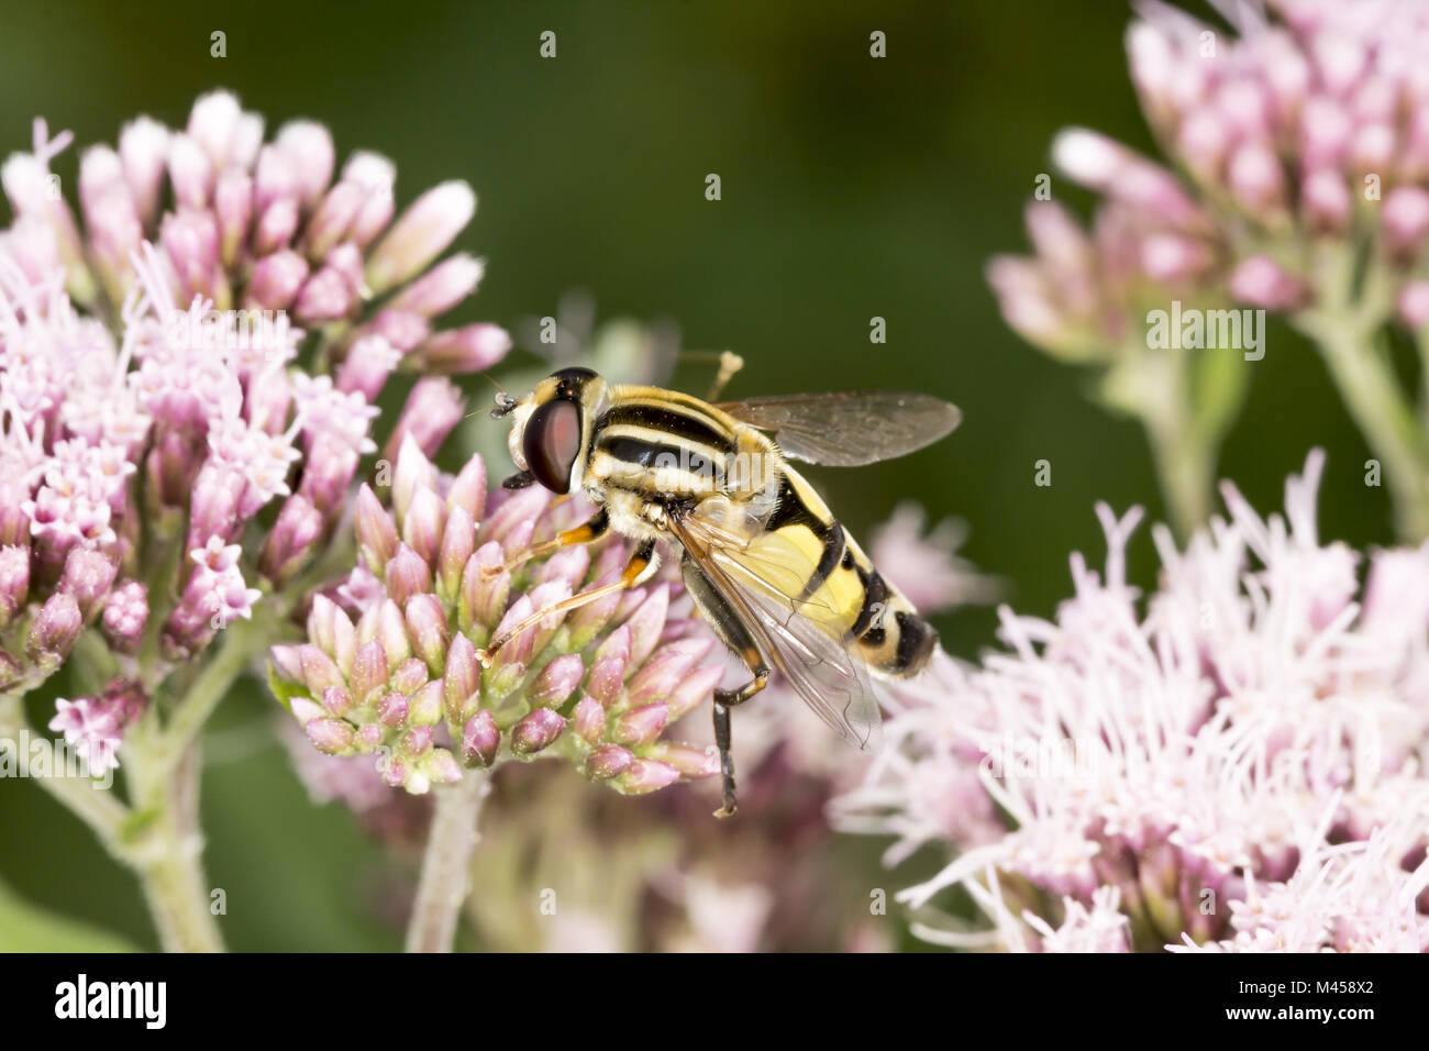
[[[1049,199],[1027,209],[1033,259],[989,280],[1026,339],[1103,357],[1147,307],[1226,297],[1270,310],[1339,302],[1325,247],[1375,245],[1368,306],[1429,323],[1429,10],[1416,0],[1270,0],[1238,36],[1167,4],[1127,33],[1142,109],[1176,172],[1086,129],[1056,167],[1102,194],[1083,233]]]

